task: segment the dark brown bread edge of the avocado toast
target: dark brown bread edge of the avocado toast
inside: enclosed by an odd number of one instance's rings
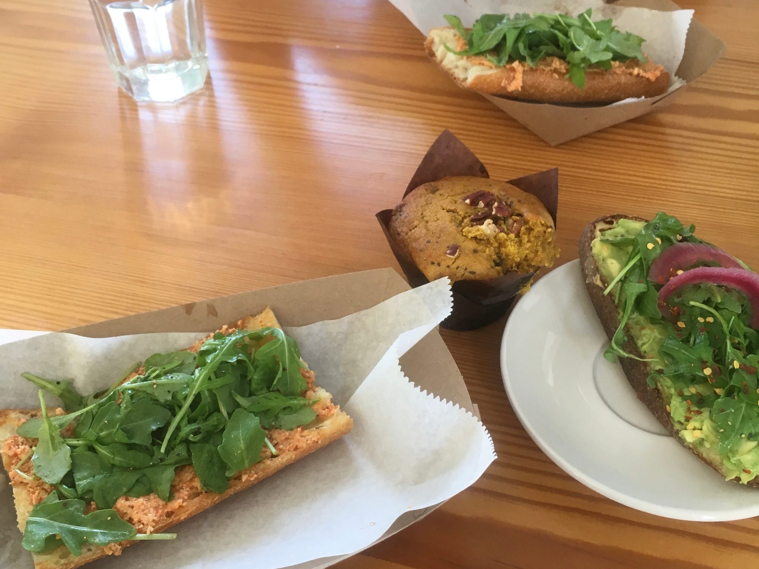
[[[598,270],[598,266],[593,257],[591,243],[593,243],[593,240],[597,237],[598,230],[612,228],[623,218],[632,219],[638,222],[648,221],[647,219],[635,215],[623,215],[621,213],[605,215],[587,225],[580,237],[580,266],[585,280],[585,288],[587,288],[587,294],[591,297],[593,307],[596,309],[598,318],[603,325],[606,335],[609,337],[609,341],[613,338],[616,329],[619,328],[619,310],[614,303],[613,295],[609,294],[608,296],[604,296],[603,294],[603,291],[609,284]],[[622,344],[622,349],[628,352],[628,354],[641,358],[644,357],[638,349],[638,344],[635,344],[635,340],[632,339],[630,334],[626,335],[625,344]],[[667,403],[661,392],[658,388],[650,387],[646,382],[647,377],[650,375],[648,363],[633,360],[629,357],[620,357],[619,363],[622,364],[625,376],[627,376],[627,380],[630,382],[630,385],[632,385],[632,388],[635,389],[635,394],[638,395],[638,399],[643,401],[645,406],[648,407],[650,412],[653,413],[653,416],[659,420],[667,431],[687,448],[688,451],[691,451],[718,473],[726,476],[726,468],[716,452],[703,454],[701,450],[705,449],[688,446],[685,443],[685,440],[679,435],[679,430],[676,428],[675,424],[672,423],[669,411],[666,410]],[[736,477],[734,480],[737,482],[740,479]],[[751,486],[759,486],[759,477],[749,481],[748,484]]]

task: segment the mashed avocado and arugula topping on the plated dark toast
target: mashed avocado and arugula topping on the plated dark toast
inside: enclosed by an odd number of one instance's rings
[[[657,284],[647,278],[666,247],[699,242],[693,229],[663,213],[652,222],[621,219],[597,229],[593,256],[612,284],[607,293],[622,322],[605,355],[635,357],[621,347],[630,335],[647,360],[649,385],[659,389],[685,444],[714,464],[721,461],[726,479],[747,483],[759,474],[759,334],[748,325],[750,309],[734,291],[694,285],[663,314]]]

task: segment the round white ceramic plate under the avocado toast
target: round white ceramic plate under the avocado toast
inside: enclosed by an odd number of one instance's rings
[[[501,343],[503,383],[537,445],[607,498],[678,520],[759,515],[759,489],[726,482],[638,401],[585,291],[579,261],[519,300]]]

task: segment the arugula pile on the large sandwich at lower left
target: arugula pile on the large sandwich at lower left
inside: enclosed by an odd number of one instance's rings
[[[316,419],[317,399],[302,397],[298,344],[276,328],[217,333],[198,354],[154,354],[144,373],[106,391],[82,396],[70,380],[49,381],[25,373],[40,387],[42,418],[17,434],[37,439],[16,473],[39,477],[55,490],[27,520],[22,545],[46,552],[64,544],[74,555],[83,542],[107,545],[126,539],[172,539],[175,534],[137,534],[111,508],[121,496],[155,492],[172,498],[175,468],[192,464],[200,485],[225,492],[231,476],[276,448],[272,427],[295,429]],[[68,414],[50,417],[43,390],[65,404]],[[73,432],[61,431],[74,423]],[[19,467],[30,460],[33,476]],[[61,499],[63,498],[63,499]],[[98,508],[84,514],[94,502]]]

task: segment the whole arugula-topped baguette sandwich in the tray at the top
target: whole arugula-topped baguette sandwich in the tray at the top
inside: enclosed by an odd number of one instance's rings
[[[649,61],[644,39],[611,19],[564,14],[483,14],[471,29],[430,30],[427,55],[459,86],[554,103],[605,103],[666,93],[669,74]]]

